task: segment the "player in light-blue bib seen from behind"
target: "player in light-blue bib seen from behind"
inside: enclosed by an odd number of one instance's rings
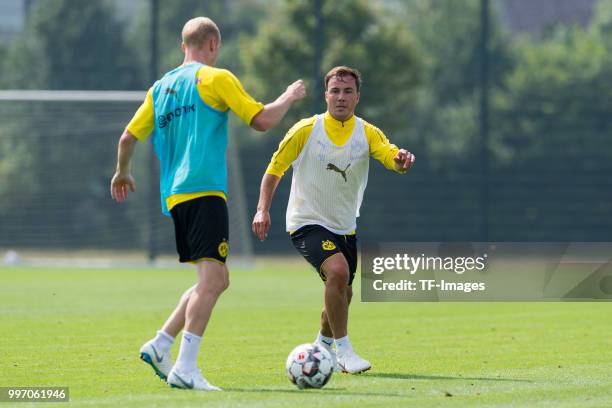
[[[175,227],[180,262],[197,267],[198,281],[140,356],[177,388],[219,391],[197,369],[197,355],[213,307],[229,285],[227,195],[228,111],[264,131],[305,96],[301,80],[274,102],[255,101],[228,70],[214,68],[221,34],[210,19],[189,20],[182,31],[183,64],[166,73],[147,93],[119,140],[111,194],[123,202],[135,190],[130,162],[138,141],[151,141],[160,162],[162,212]],[[170,348],[183,330],[176,364]]]

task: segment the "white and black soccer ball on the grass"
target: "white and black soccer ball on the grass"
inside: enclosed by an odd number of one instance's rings
[[[299,389],[322,388],[334,372],[329,351],[316,344],[300,344],[287,357],[287,377]]]

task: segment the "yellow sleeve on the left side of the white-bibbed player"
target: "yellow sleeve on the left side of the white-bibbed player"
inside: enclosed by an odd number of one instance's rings
[[[302,119],[285,135],[285,138],[278,145],[278,149],[272,155],[272,160],[266,169],[266,174],[283,177],[289,166],[298,158],[304,145],[308,141],[308,136],[312,132],[315,117]]]

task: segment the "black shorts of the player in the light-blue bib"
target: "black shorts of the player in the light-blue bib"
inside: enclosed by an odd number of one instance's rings
[[[221,197],[204,196],[175,205],[174,221],[179,262],[214,259],[225,263],[229,251],[227,203]]]

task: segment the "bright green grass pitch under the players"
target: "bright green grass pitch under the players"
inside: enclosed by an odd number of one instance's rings
[[[171,389],[138,350],[194,279],[183,268],[0,268],[0,386],[68,386],[70,406],[96,407],[612,406],[612,304],[360,303],[359,278],[349,333],[372,370],[298,390],[285,359],[314,340],[323,291],[297,256],[231,272],[200,351],[225,392]]]

